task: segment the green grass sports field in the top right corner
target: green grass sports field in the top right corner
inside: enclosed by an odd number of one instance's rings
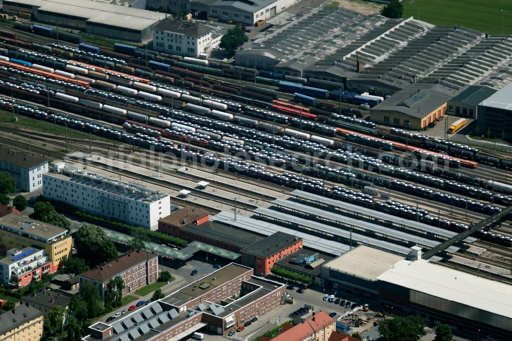
[[[403,17],[410,16],[433,25],[465,26],[490,34],[501,34],[503,18],[503,33],[512,34],[512,0],[405,0]]]

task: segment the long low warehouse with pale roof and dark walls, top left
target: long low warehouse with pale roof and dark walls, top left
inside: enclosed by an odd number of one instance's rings
[[[89,0],[4,1],[4,11],[30,13],[39,23],[136,42],[152,38],[164,14]]]

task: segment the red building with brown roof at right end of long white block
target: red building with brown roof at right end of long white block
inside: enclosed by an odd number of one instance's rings
[[[158,232],[181,238],[181,229],[187,225],[201,225],[207,222],[207,211],[199,208],[184,207],[158,221]]]

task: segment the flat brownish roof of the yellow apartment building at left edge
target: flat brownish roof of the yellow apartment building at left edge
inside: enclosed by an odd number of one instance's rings
[[[64,236],[68,230],[39,220],[33,220],[11,213],[0,218],[0,226],[7,226],[14,230],[23,231],[29,235],[50,240],[58,236]]]

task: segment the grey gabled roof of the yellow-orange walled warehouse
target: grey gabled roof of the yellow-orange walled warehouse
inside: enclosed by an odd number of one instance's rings
[[[398,111],[416,118],[423,118],[452,98],[453,90],[440,84],[414,84],[375,105],[372,111]]]

